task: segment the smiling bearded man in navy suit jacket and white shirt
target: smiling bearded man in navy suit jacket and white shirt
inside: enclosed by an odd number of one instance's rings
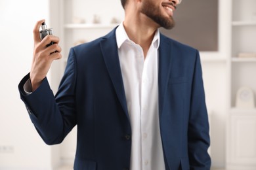
[[[55,97],[46,75],[61,58],[59,40],[40,41],[44,20],[35,25],[20,95],[45,143],[61,143],[77,125],[74,169],[210,169],[198,51],[158,31],[174,26],[180,1],[121,0],[123,23],[71,48]]]

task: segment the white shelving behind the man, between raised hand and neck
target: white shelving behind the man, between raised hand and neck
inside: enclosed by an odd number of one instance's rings
[[[64,58],[68,57],[72,46],[106,35],[123,20],[124,12],[120,1],[58,1],[61,3]],[[113,18],[117,20],[116,24],[112,24]],[[98,20],[97,24],[95,20]]]

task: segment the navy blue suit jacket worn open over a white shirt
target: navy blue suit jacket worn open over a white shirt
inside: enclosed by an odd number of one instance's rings
[[[209,169],[209,124],[198,51],[160,35],[158,77],[165,169]],[[71,48],[55,97],[47,78],[26,95],[28,78],[19,84],[20,96],[45,143],[61,143],[77,125],[74,169],[129,169],[132,130],[116,29]]]

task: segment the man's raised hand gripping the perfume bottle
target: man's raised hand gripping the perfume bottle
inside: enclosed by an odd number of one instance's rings
[[[39,28],[45,20],[37,22],[33,29],[33,61],[30,71],[30,80],[32,84],[32,92],[35,91],[41,84],[43,78],[47,75],[51,63],[54,59],[60,59],[61,48],[58,46],[59,38],[54,35],[47,35],[42,41],[39,35]],[[55,42],[47,47],[47,44]]]

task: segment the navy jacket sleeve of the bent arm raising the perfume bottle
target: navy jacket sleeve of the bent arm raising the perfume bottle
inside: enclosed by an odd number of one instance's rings
[[[61,143],[76,124],[75,77],[74,52],[70,50],[66,71],[56,97],[47,78],[29,95],[24,92],[24,84],[30,78],[30,74],[18,85],[20,97],[26,105],[32,123],[47,144]]]

